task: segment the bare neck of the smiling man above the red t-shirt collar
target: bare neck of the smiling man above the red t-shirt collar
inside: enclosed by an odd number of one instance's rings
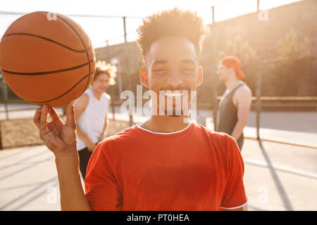
[[[169,115],[151,115],[149,120],[141,124],[141,127],[153,132],[170,133],[185,129],[189,120],[184,115],[172,117]]]

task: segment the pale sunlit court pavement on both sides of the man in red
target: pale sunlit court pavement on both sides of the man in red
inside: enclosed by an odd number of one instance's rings
[[[317,210],[317,150],[246,140],[249,210]],[[54,155],[45,146],[0,152],[0,210],[61,210]]]

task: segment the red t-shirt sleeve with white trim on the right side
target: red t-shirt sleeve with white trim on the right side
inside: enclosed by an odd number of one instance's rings
[[[237,142],[231,136],[228,138],[228,180],[223,193],[220,207],[224,210],[234,210],[247,204],[244,190],[244,162]]]

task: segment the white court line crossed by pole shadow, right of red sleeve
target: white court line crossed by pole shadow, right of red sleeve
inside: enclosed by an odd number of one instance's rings
[[[262,166],[262,167],[268,167],[268,164],[266,162],[261,161],[261,160],[243,158],[243,161],[245,163],[247,163],[247,164],[250,164],[250,165],[259,165],[259,166]],[[280,171],[291,172],[292,174],[308,176],[308,177],[311,177],[313,179],[317,179],[317,174],[316,173],[307,172],[307,171],[304,171],[302,169],[294,169],[292,167],[286,167],[286,166],[282,166],[282,165],[273,165],[273,164],[272,164],[272,167],[273,167],[273,169],[277,169],[277,170],[280,170]]]

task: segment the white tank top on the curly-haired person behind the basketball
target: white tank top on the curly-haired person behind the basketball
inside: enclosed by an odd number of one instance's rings
[[[84,112],[82,112],[82,115],[78,118],[77,126],[80,127],[82,132],[89,136],[89,139],[92,140],[92,142],[98,143],[99,137],[104,130],[108,102],[111,97],[108,94],[103,93],[98,100],[94,96],[92,89],[87,89],[85,94],[89,96],[89,102]],[[82,150],[86,147],[85,142],[77,137],[77,150]]]

